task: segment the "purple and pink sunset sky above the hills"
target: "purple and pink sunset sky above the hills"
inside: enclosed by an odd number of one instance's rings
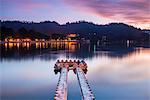
[[[1,20],[121,22],[150,29],[150,0],[0,0]]]

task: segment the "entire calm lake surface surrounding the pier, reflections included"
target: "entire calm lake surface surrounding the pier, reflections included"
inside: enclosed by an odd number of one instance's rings
[[[94,44],[3,44],[0,56],[2,100],[53,100],[57,59],[84,59],[96,100],[150,100],[150,48]],[[68,76],[68,99],[81,100],[77,77]]]

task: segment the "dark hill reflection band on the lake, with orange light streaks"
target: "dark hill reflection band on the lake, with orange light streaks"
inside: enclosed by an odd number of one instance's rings
[[[77,42],[36,42],[1,44],[0,60],[35,59],[56,60],[62,54],[66,58],[92,58],[98,56],[119,57],[139,52],[135,47],[83,44]]]

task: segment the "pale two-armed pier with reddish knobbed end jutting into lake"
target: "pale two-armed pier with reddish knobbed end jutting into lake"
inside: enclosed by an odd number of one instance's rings
[[[67,78],[69,70],[73,70],[74,73],[77,75],[77,79],[81,89],[82,99],[95,100],[92,90],[90,89],[88,81],[85,77],[85,73],[87,72],[87,64],[83,60],[58,60],[56,62],[54,66],[54,72],[56,74],[60,72],[60,77],[56,87],[54,100],[67,100]]]

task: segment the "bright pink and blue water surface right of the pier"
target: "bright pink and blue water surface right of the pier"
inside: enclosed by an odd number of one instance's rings
[[[149,100],[149,54],[150,49],[142,48],[121,59],[108,56],[87,59],[91,66],[87,76],[96,97],[103,100]]]

